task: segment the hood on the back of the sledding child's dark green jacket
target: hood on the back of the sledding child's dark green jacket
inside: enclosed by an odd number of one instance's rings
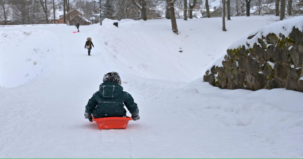
[[[114,82],[104,82],[99,86],[99,93],[104,98],[116,98],[123,92],[123,87]]]

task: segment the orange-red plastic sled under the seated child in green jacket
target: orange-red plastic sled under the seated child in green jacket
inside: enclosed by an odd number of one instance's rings
[[[126,129],[128,121],[132,120],[131,117],[106,117],[106,118],[93,118],[97,123],[100,130],[102,129]]]

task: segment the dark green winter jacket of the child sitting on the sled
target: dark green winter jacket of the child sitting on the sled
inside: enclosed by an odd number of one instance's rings
[[[85,112],[94,118],[126,116],[124,105],[132,116],[139,115],[139,109],[132,96],[114,82],[104,82],[85,106]]]

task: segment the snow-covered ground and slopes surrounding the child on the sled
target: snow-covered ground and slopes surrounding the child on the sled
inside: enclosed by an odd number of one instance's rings
[[[0,27],[0,158],[302,158],[303,93],[202,82],[235,40],[269,16]],[[95,48],[84,49],[87,37]],[[182,52],[179,52],[182,51]],[[117,71],[141,119],[98,130],[84,118]],[[128,115],[130,115],[128,113]]]

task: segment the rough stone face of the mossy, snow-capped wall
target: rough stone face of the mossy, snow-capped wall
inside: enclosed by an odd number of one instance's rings
[[[289,35],[269,33],[257,37],[252,47],[247,47],[246,42],[246,46],[228,49],[222,65],[207,70],[204,81],[225,89],[286,88],[303,92],[303,33],[300,30],[293,27]]]

